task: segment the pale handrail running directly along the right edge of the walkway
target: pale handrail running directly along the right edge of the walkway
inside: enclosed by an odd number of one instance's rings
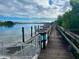
[[[66,41],[74,48],[74,50],[76,51],[76,53],[79,54],[79,48],[67,37],[67,35],[71,36],[70,34],[68,34],[66,31],[64,31],[61,27],[58,26],[58,31],[61,33],[61,35],[66,39]],[[71,36],[72,37],[72,36]],[[74,39],[72,37],[72,39]]]

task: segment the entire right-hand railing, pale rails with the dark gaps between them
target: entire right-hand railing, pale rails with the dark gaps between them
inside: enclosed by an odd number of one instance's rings
[[[57,30],[62,35],[63,39],[65,39],[66,43],[68,43],[68,48],[72,52],[72,54],[75,56],[76,59],[79,59],[79,42],[78,39],[73,37],[71,34],[69,34],[67,31],[62,29],[62,27],[57,27]]]

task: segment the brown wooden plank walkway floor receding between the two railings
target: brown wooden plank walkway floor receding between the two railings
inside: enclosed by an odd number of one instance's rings
[[[48,47],[41,51],[38,59],[75,59],[61,38],[57,30],[53,28]]]

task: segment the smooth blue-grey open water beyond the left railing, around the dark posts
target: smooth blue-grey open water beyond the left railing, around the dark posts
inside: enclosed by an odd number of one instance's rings
[[[0,45],[11,45],[17,42],[22,42],[22,27],[24,27],[25,41],[31,37],[31,26],[38,26],[43,24],[16,24],[13,27],[0,27]],[[34,32],[34,29],[33,29]],[[34,35],[34,33],[33,33]]]

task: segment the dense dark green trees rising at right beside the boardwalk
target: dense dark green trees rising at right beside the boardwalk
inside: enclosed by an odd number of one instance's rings
[[[72,10],[58,17],[58,25],[71,31],[79,31],[79,3],[71,1]]]

